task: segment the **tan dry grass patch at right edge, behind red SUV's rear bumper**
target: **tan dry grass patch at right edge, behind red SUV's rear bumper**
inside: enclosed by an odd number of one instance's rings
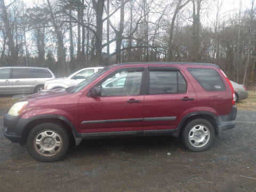
[[[248,98],[236,103],[238,110],[256,111],[256,91],[248,91]]]

